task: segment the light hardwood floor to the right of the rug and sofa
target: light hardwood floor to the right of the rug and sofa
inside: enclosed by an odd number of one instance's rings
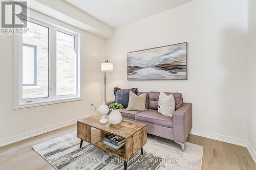
[[[196,135],[190,135],[187,141],[204,147],[202,169],[256,169],[244,147]]]

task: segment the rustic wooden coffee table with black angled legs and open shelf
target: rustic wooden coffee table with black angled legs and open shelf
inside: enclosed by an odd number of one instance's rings
[[[111,125],[110,123],[100,124],[100,119],[101,115],[97,114],[77,121],[77,137],[81,139],[80,148],[82,147],[83,140],[87,141],[103,151],[122,158],[124,169],[127,169],[127,161],[136,152],[141,150],[141,155],[143,155],[142,147],[147,141],[146,125],[126,119],[122,119],[122,122],[118,125]],[[103,143],[104,136],[108,134],[124,138],[125,144],[118,150],[105,145]]]

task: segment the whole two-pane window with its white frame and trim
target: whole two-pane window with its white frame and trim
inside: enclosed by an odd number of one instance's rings
[[[81,100],[79,34],[32,18],[27,27],[14,39],[14,108]]]

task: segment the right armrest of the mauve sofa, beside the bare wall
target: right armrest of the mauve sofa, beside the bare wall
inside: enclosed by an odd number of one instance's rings
[[[189,132],[192,129],[192,104],[183,103],[173,113],[174,140],[185,143]]]

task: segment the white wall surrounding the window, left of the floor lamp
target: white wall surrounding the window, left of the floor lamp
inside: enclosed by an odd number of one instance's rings
[[[54,23],[65,25],[58,21]],[[100,71],[100,63],[105,57],[106,41],[81,30],[78,31],[81,32],[83,100],[17,110],[13,109],[14,40],[13,36],[0,36],[0,141],[92,114],[94,110],[91,108],[91,102],[96,107],[100,105],[103,98],[103,75]]]

